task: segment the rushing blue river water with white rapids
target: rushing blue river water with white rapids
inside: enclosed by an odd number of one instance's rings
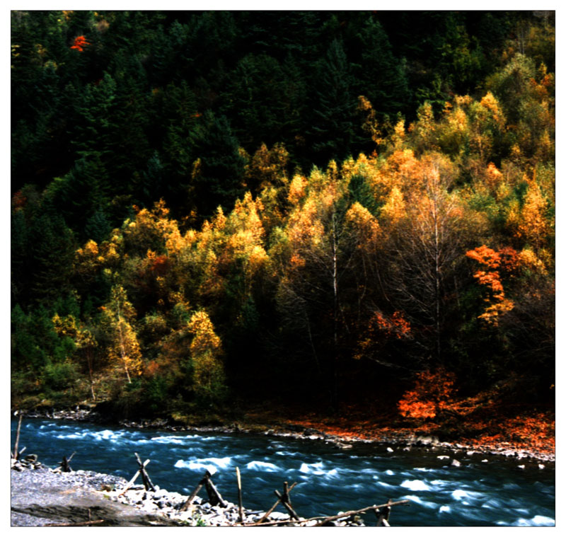
[[[12,420],[12,446],[17,422]],[[251,434],[192,434],[123,429],[66,420],[24,420],[20,447],[47,466],[59,466],[74,451],[74,470],[94,470],[129,479],[134,452],[151,459],[151,480],[166,490],[190,494],[205,470],[226,500],[237,502],[236,466],[243,504],[267,510],[274,490],[297,482],[291,492],[300,516],[336,514],[391,500],[392,526],[554,526],[554,463],[424,449],[403,451],[364,444],[342,451],[323,441]],[[451,466],[453,458],[461,466]],[[487,462],[483,462],[487,459]],[[524,468],[520,468],[524,463]],[[203,489],[204,490],[204,489]],[[284,510],[284,509],[279,509]],[[375,524],[374,515],[364,515]]]

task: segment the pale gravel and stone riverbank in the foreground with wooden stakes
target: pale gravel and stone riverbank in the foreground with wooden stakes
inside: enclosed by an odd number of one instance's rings
[[[236,526],[256,524],[265,515],[243,509],[241,521],[235,504],[211,505],[199,496],[183,509],[188,497],[178,492],[134,485],[122,493],[127,484],[122,478],[84,470],[61,473],[34,462],[12,462],[12,526]],[[289,514],[277,511],[264,521],[287,526],[314,526],[318,522],[291,521]],[[364,522],[359,516],[345,516],[325,525],[364,526]]]

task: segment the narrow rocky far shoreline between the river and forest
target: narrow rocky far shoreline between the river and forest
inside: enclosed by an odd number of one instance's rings
[[[44,412],[26,412],[28,418],[47,418],[53,420],[76,420],[84,422],[106,422],[95,411],[87,407],[76,407],[74,410],[45,410]],[[381,434],[379,438],[359,438],[354,435],[336,435],[322,432],[312,427],[304,427],[298,424],[284,426],[270,426],[257,424],[253,427],[242,426],[238,423],[231,425],[204,425],[187,426],[171,423],[168,420],[140,420],[137,422],[121,420],[113,425],[134,428],[134,429],[166,429],[173,432],[190,433],[218,433],[218,434],[266,434],[267,436],[306,439],[310,441],[325,441],[334,444],[338,449],[350,449],[356,444],[378,444],[383,446],[393,446],[395,449],[410,451],[411,449],[430,449],[449,451],[454,456],[458,454],[484,456],[503,456],[515,458],[521,462],[529,461],[533,464],[554,463],[555,453],[543,453],[535,449],[517,449],[509,445],[489,446],[473,445],[457,441],[440,441],[438,437],[429,434],[406,434],[403,432],[388,431]],[[502,443],[504,444],[504,443]]]

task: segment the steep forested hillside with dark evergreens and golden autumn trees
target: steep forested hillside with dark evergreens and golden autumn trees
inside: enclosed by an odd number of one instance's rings
[[[13,402],[552,403],[554,71],[546,11],[12,11]]]

